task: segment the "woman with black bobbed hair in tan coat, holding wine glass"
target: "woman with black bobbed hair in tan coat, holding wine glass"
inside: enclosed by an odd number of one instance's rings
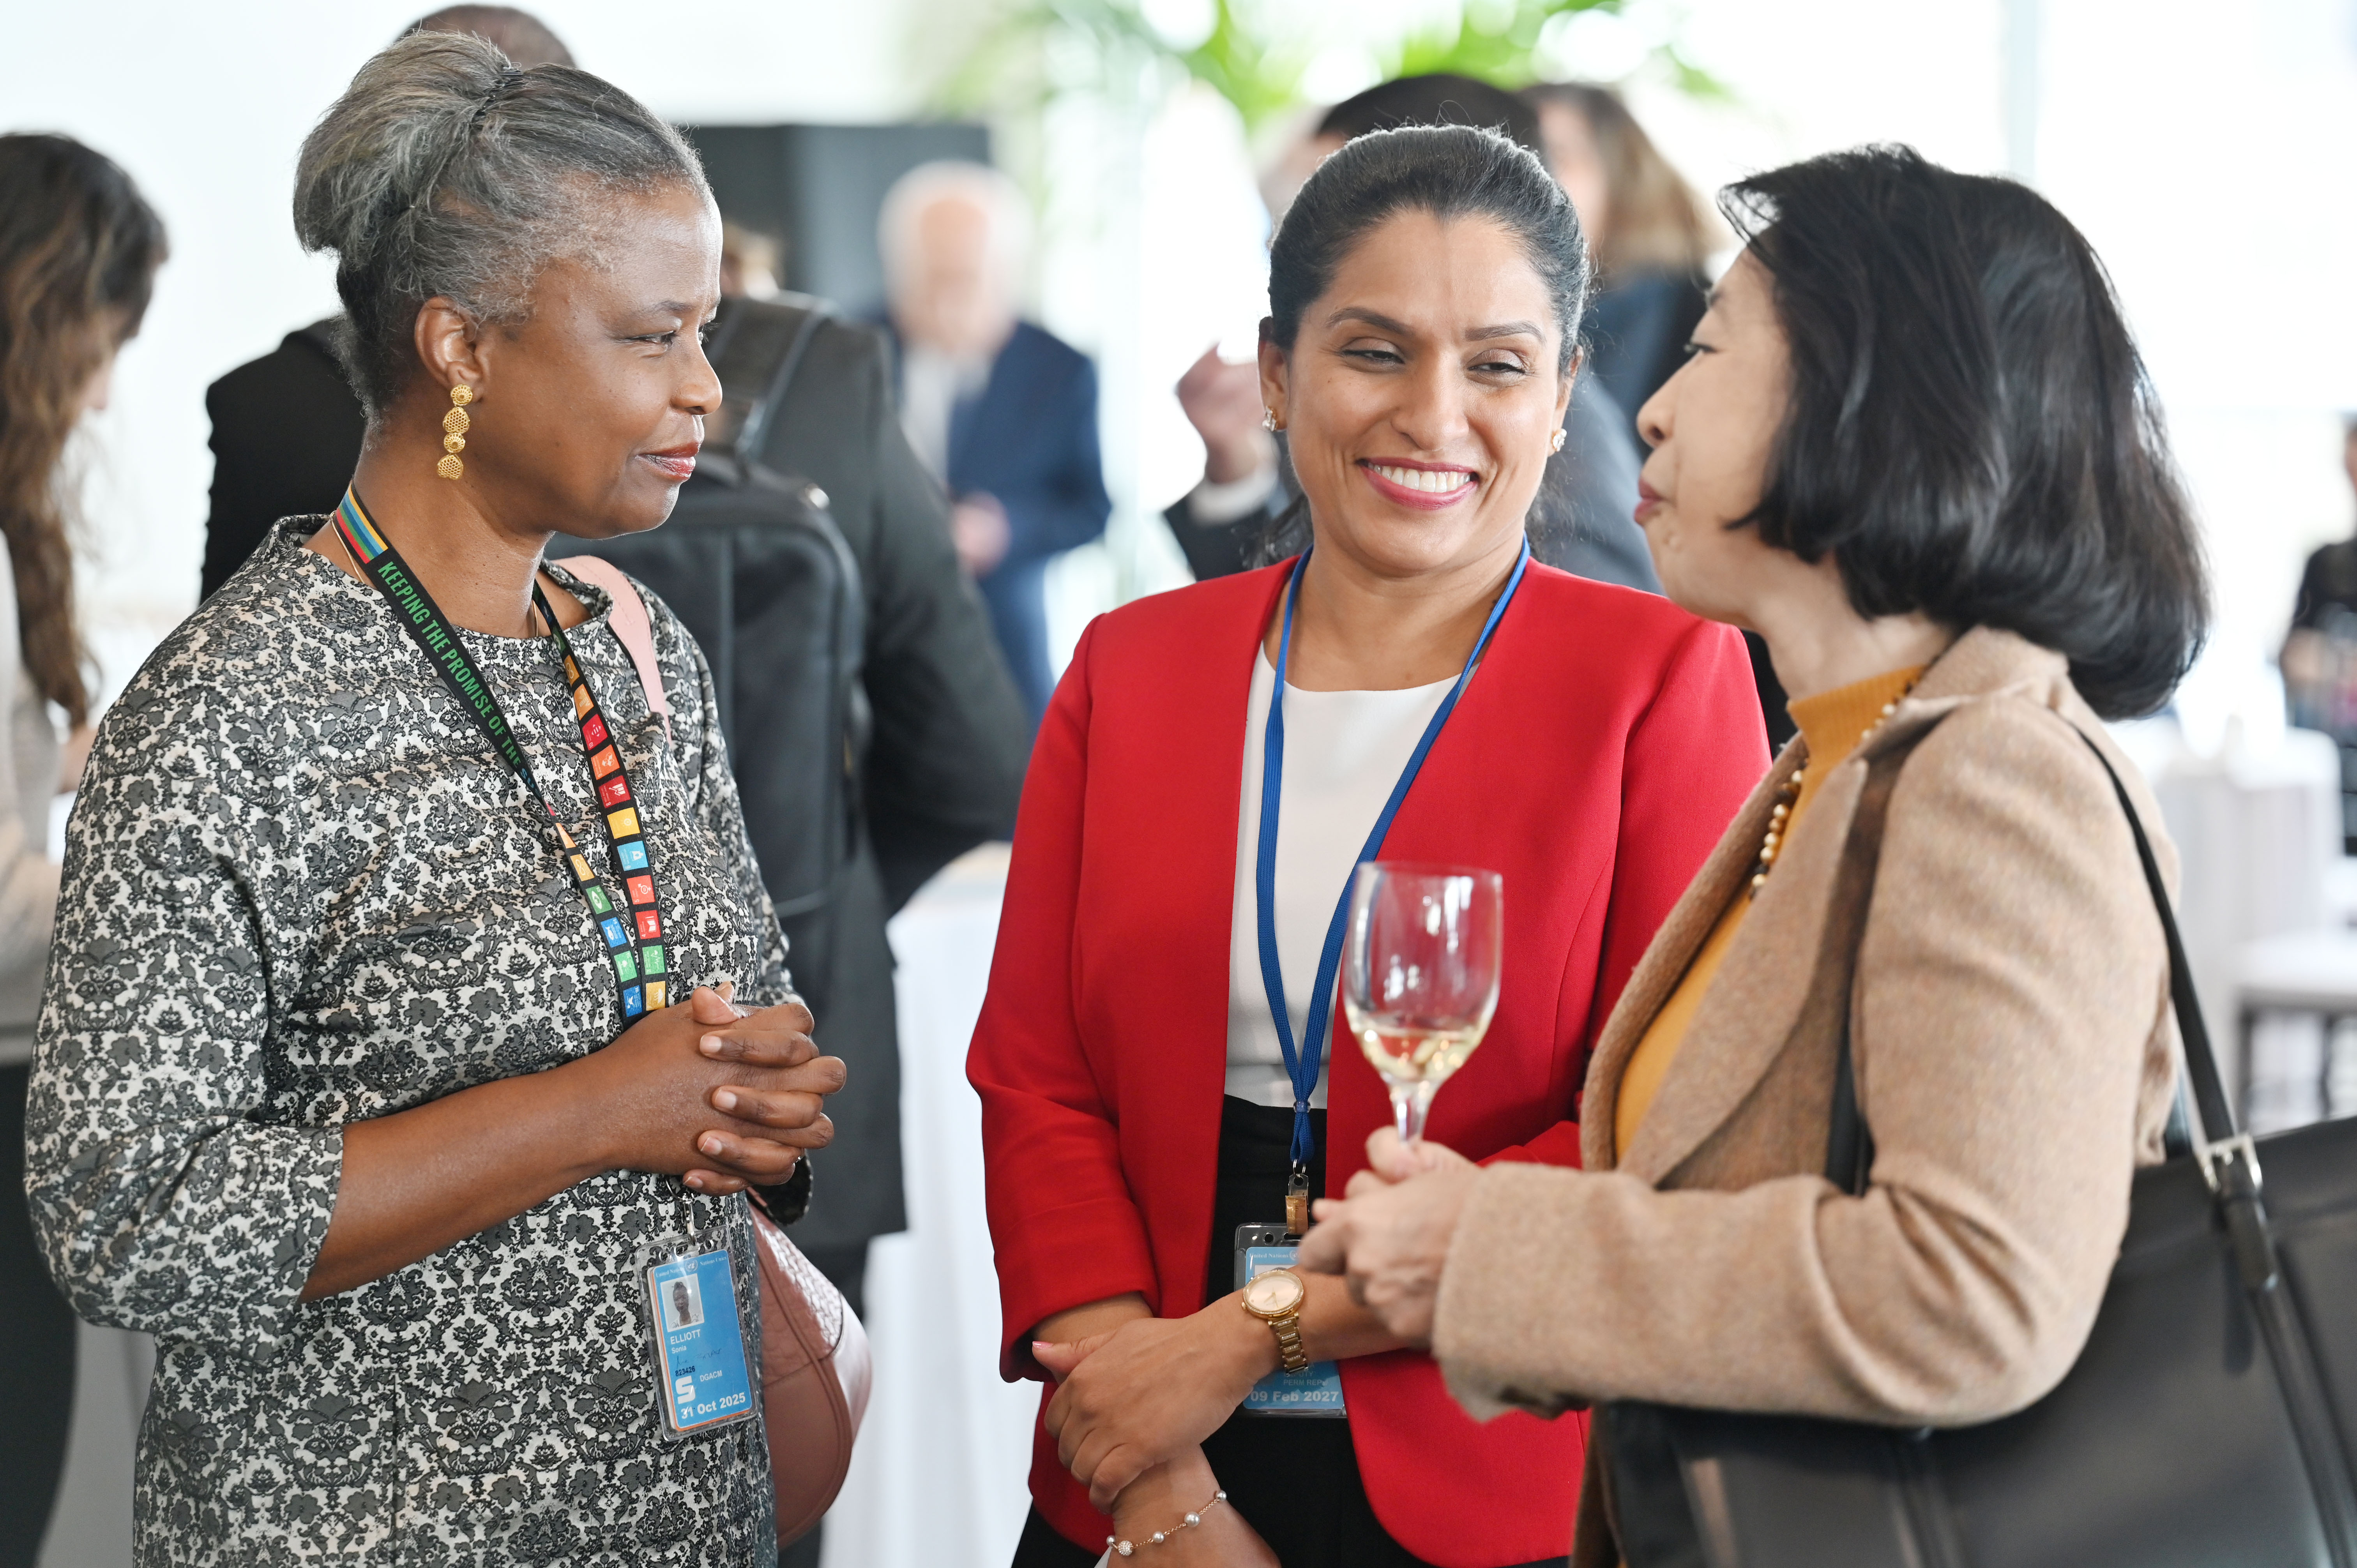
[[[1801,736],[1622,993],[1584,1170],[1379,1134],[1303,1264],[1475,1415],[1985,1422],[2069,1370],[2161,1153],[2168,962],[2088,743],[2159,842],[2100,719],[2176,686],[2204,568],[2102,269],[2039,196],[1867,149],[1725,207],[1749,248],[1640,415],[1638,521],[1678,604],[1768,639]],[[1879,757],[1881,868],[1827,988]],[[1843,1004],[1855,1198],[1824,1177]],[[1612,1561],[1596,1502],[1584,1563]]]

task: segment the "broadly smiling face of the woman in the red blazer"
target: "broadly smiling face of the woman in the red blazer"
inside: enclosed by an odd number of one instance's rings
[[[1511,552],[1572,382],[1546,283],[1508,229],[1400,212],[1261,344],[1320,547],[1379,578]]]

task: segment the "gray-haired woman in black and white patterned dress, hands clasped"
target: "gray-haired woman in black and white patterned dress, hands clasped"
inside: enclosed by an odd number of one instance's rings
[[[139,1561],[773,1563],[742,1193],[841,1063],[695,644],[542,559],[693,469],[719,215],[615,87],[415,35],[295,226],[368,446],[108,714],[31,1089],[52,1273],[158,1337]]]

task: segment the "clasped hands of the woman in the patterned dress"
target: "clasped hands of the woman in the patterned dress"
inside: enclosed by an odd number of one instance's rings
[[[844,1063],[820,1056],[799,1000],[745,1012],[700,986],[573,1063],[606,1170],[681,1177],[700,1193],[773,1186],[834,1139],[825,1096]]]

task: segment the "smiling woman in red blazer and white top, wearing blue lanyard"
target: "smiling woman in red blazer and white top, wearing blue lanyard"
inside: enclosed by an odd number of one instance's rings
[[[1296,1111],[1313,1195],[1391,1120],[1351,1037],[1306,1019],[1351,861],[1428,726],[1379,854],[1504,872],[1497,1016],[1431,1113],[1490,1160],[1577,1162],[1596,1030],[1765,769],[1730,630],[1527,564],[1586,281],[1570,203],[1504,137],[1334,153],[1273,245],[1261,342],[1306,559],[1103,615],[1047,712],[969,1059],[1002,1368],[1063,1379],[1023,1566],[1506,1568],[1570,1542],[1584,1417],[1475,1424],[1329,1276],[1277,1327],[1341,1365],[1346,1419],[1240,1412],[1285,1346],[1228,1285],[1235,1226],[1285,1221]],[[1270,995],[1325,1052],[1313,1094],[1268,1061]]]

